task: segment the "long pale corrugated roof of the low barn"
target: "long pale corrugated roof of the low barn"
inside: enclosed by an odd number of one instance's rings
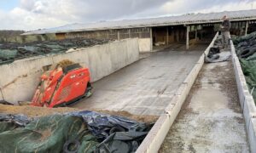
[[[109,29],[125,29],[133,27],[151,27],[151,26],[177,26],[203,23],[220,22],[221,18],[227,15],[230,20],[256,20],[256,9],[240,11],[224,11],[209,14],[183,14],[179,16],[167,16],[159,18],[148,18],[140,20],[117,20],[104,21],[90,24],[73,24],[60,26],[56,28],[43,29],[38,31],[29,31],[23,35],[61,33],[73,31],[100,31]]]

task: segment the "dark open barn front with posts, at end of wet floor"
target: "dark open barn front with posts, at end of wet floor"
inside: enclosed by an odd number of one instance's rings
[[[214,24],[152,27],[153,49],[187,48],[211,42],[216,31]]]

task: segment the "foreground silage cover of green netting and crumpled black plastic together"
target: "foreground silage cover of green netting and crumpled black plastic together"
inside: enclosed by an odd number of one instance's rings
[[[94,111],[0,115],[0,152],[135,152],[151,125]]]

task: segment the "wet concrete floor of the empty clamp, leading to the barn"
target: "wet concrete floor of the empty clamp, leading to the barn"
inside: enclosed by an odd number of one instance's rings
[[[73,107],[159,116],[205,48],[142,54],[136,63],[94,82],[90,99]]]

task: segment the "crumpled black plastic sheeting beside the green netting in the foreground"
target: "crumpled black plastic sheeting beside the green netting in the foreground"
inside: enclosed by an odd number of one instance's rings
[[[135,122],[121,116],[79,111],[68,113],[70,116],[82,116],[90,132],[102,141],[96,152],[135,152],[153,125]]]

